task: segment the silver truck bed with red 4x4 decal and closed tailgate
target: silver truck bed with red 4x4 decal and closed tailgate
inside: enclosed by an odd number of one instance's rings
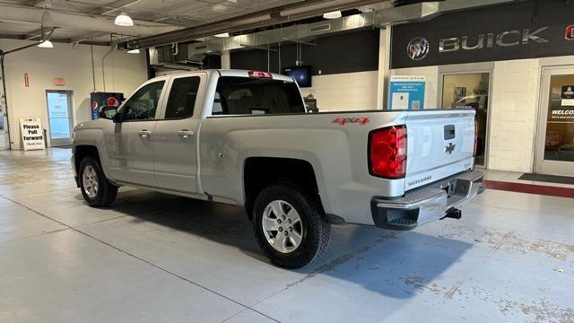
[[[406,175],[403,179],[372,176],[367,161],[369,134],[396,125],[407,129]],[[398,198],[407,190],[474,167],[473,109],[213,116],[203,120],[199,132],[199,191],[241,204],[244,196],[238,177],[242,170],[237,167],[248,158],[301,159],[309,161],[319,191],[326,192],[322,195],[326,213],[352,214],[347,221],[351,223],[372,224],[365,201],[373,196]]]

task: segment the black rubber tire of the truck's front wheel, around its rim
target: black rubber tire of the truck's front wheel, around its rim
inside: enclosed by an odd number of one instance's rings
[[[91,170],[94,170],[97,177],[98,189],[95,196],[90,196],[83,185],[83,174],[88,167],[91,167]],[[78,179],[80,181],[80,190],[82,190],[83,199],[88,205],[93,207],[104,207],[111,205],[116,200],[117,186],[109,182],[104,171],[101,170],[100,162],[91,156],[85,157],[80,163]]]

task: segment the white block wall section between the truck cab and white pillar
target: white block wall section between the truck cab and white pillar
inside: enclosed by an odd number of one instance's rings
[[[301,92],[313,94],[320,112],[377,109],[378,71],[314,75],[311,83]]]

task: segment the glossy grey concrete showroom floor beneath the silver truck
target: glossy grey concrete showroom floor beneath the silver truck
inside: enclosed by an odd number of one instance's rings
[[[122,188],[84,205],[70,151],[0,152],[1,322],[573,322],[574,200],[486,191],[463,219],[334,226],[272,266],[241,208]]]

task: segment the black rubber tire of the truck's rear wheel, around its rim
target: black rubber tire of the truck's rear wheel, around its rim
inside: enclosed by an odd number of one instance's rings
[[[257,243],[265,256],[278,266],[287,268],[306,266],[316,258],[320,258],[329,245],[331,225],[326,220],[322,207],[319,206],[318,198],[309,196],[311,197],[305,196],[302,190],[291,184],[276,183],[264,188],[256,198],[253,207],[253,226]],[[299,246],[288,253],[275,249],[267,240],[263,228],[265,208],[278,200],[292,205],[300,216],[302,239]],[[277,232],[279,233],[281,232]]]

